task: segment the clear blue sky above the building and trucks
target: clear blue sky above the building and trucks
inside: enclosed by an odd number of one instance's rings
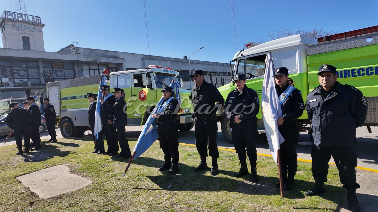
[[[46,51],[79,47],[149,54],[142,0],[25,0],[41,17]],[[265,2],[269,2],[268,4]],[[327,5],[325,5],[327,4]],[[237,50],[281,27],[352,31],[378,25],[376,0],[234,0]],[[0,0],[0,11],[15,0]],[[235,54],[229,0],[147,0],[150,55],[229,63]],[[0,42],[2,47],[2,42]]]

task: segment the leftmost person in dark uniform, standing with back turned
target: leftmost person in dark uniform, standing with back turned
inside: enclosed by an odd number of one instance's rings
[[[19,108],[17,102],[11,103],[11,111],[6,117],[6,124],[9,128],[14,130],[14,139],[19,151],[16,153],[22,155],[23,153],[29,153],[29,128],[31,124],[31,116],[25,109]],[[22,136],[25,141],[25,151],[22,151]]]

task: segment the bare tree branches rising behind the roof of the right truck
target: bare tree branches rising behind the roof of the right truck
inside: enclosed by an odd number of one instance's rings
[[[288,36],[291,36],[291,35],[298,35],[298,34],[301,34],[301,35],[305,35],[311,39],[313,39],[314,41],[317,41],[317,38],[319,37],[323,37],[323,36],[326,36],[326,35],[332,35],[332,34],[338,34],[339,33],[339,30],[331,30],[331,31],[325,31],[325,29],[322,27],[321,29],[311,29],[309,31],[306,31],[304,29],[287,29],[285,27],[282,27],[281,29],[277,30],[277,31],[272,31],[272,32],[269,32],[268,33],[268,37],[269,39],[268,40],[263,40],[263,39],[260,39],[259,41],[261,43],[265,43],[267,41],[271,41],[271,40],[276,40],[278,38],[283,38],[283,37],[288,37]]]

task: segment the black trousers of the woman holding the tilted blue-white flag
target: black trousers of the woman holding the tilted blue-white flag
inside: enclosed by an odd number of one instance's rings
[[[159,124],[160,148],[163,149],[164,160],[178,163],[178,124],[176,121]]]

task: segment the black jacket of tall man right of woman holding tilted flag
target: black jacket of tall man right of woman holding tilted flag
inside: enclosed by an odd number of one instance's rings
[[[214,85],[203,80],[200,87],[194,85],[191,91],[191,96],[195,122],[197,122],[197,124],[205,124],[209,121],[216,122],[216,112],[225,104],[225,100],[222,95],[220,95],[218,89]],[[216,102],[217,105],[215,105]]]

